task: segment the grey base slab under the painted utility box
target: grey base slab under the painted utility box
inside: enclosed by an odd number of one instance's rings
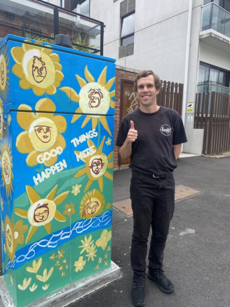
[[[111,261],[111,267],[75,283],[68,284],[59,291],[42,297],[25,307],[63,307],[79,298],[100,289],[106,284],[121,277],[121,269]],[[3,276],[0,277],[0,307],[15,307],[13,299],[6,287]]]

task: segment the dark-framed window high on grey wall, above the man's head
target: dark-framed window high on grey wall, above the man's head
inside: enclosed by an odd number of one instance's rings
[[[135,13],[122,17],[121,46],[134,42]]]

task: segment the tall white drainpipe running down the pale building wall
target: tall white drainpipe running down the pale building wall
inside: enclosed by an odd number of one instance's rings
[[[184,125],[185,125],[186,105],[187,105],[187,89],[188,89],[188,75],[189,75],[189,52],[190,52],[192,10],[193,10],[193,0],[189,0],[189,17],[188,17],[187,42],[186,42],[185,80],[183,82],[183,100],[182,100],[182,116],[181,116]],[[183,144],[182,144],[182,147],[181,147],[181,152],[183,152]]]

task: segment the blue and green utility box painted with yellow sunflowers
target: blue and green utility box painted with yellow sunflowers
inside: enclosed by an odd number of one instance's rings
[[[3,272],[24,306],[110,266],[115,64],[0,44]]]

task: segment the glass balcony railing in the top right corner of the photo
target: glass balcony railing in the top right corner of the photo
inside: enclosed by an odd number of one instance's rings
[[[230,13],[215,3],[202,7],[201,31],[209,29],[230,37]]]

